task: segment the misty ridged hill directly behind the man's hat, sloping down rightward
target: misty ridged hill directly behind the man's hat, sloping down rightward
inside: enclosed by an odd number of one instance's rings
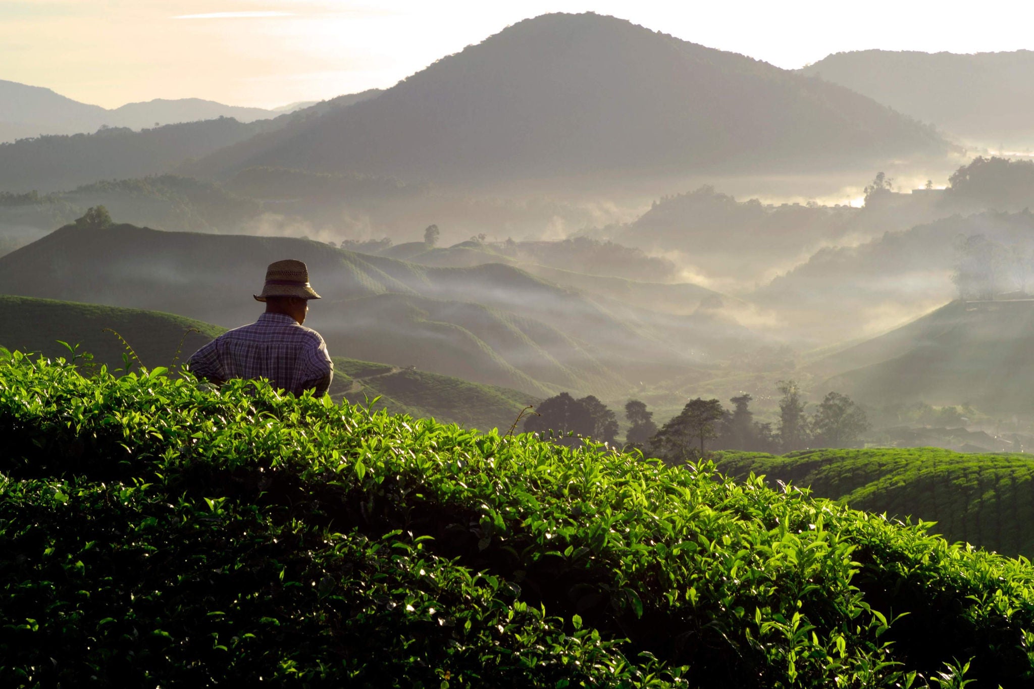
[[[541,397],[556,386],[619,395],[632,381],[665,380],[756,339],[735,323],[719,327],[706,310],[658,314],[498,263],[429,268],[308,240],[131,225],[69,225],[0,257],[0,293],[169,311],[230,327],[254,318],[251,294],[266,265],[284,256],[306,261],[326,297],[313,305],[311,324],[334,353]]]

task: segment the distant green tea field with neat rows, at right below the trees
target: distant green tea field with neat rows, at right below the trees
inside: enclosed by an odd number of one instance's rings
[[[937,522],[932,532],[1005,555],[1034,557],[1034,458],[938,447],[818,449],[773,457],[721,452],[733,476],[764,474],[856,509]]]

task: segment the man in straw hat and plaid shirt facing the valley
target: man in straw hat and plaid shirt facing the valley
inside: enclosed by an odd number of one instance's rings
[[[270,263],[262,293],[253,296],[266,303],[266,313],[195,351],[187,362],[190,371],[217,385],[231,378],[268,378],[296,396],[307,389],[323,396],[334,365],[320,334],[302,325],[309,300],[320,299],[309,285],[308,268],[294,259]]]

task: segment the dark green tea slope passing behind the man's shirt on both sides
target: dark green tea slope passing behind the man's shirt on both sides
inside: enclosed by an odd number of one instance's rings
[[[59,343],[63,341],[78,345],[79,354],[92,354],[94,365],[105,365],[112,371],[122,369],[126,348],[105,328],[122,336],[148,368],[183,364],[194,350],[225,331],[157,311],[0,295],[0,346],[8,350],[67,359],[71,354]],[[540,402],[534,395],[452,376],[343,356],[333,358],[330,393],[335,401],[366,404],[379,398],[374,408],[392,413],[506,431],[524,406]],[[93,368],[87,365],[86,370]]]

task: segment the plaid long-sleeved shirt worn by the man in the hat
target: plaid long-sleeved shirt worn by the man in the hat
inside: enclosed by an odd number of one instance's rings
[[[315,389],[322,396],[334,377],[327,344],[311,327],[282,313],[223,333],[190,356],[190,371],[222,383],[231,378],[268,378],[295,395]]]

